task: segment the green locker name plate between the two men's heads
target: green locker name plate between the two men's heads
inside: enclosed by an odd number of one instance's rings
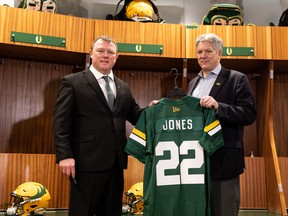
[[[117,43],[119,52],[163,54],[162,45]]]

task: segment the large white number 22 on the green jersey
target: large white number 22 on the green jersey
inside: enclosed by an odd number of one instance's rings
[[[195,158],[185,158],[180,162],[179,155],[187,155],[189,150],[195,151]],[[179,184],[204,184],[204,174],[189,174],[189,169],[200,168],[204,163],[203,148],[198,141],[184,141],[178,147],[175,142],[159,142],[155,148],[156,156],[170,152],[170,159],[159,160],[156,165],[157,186]],[[176,169],[180,164],[180,175],[165,175],[165,170]]]

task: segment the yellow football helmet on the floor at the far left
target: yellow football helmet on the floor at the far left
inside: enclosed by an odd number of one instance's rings
[[[5,215],[44,215],[50,194],[37,182],[25,182],[10,194],[10,203],[5,205]]]

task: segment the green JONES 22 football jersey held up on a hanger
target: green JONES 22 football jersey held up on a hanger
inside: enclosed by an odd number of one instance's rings
[[[209,216],[209,155],[223,146],[200,99],[161,99],[141,114],[125,151],[145,163],[145,216]]]

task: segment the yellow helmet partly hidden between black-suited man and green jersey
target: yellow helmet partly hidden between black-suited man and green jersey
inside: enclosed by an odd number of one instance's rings
[[[134,184],[126,193],[126,201],[123,203],[123,213],[143,214],[143,182]]]

